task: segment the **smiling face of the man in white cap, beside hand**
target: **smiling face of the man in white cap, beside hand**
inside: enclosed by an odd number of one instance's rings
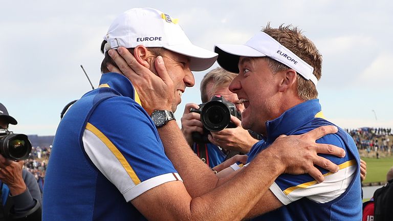
[[[161,56],[164,59],[165,68],[173,81],[174,99],[172,103],[172,112],[175,112],[182,101],[181,97],[186,87],[193,86],[195,84],[195,79],[190,70],[190,62],[187,56],[168,50],[164,50]],[[150,64],[150,68],[154,67],[154,63]]]

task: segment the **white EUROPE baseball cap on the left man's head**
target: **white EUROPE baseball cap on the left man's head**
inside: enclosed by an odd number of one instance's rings
[[[213,65],[217,54],[192,45],[179,20],[152,8],[134,8],[119,15],[103,37],[104,53],[118,47],[158,47],[190,57],[191,71],[204,71]]]

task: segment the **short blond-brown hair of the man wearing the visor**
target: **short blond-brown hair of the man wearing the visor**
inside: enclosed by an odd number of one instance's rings
[[[270,27],[268,23],[266,28],[262,30],[270,35],[281,45],[296,54],[303,61],[307,62],[314,68],[313,74],[319,80],[321,78],[322,70],[322,55],[315,47],[314,43],[302,34],[302,31],[292,25],[280,25],[277,29]],[[271,58],[267,58],[269,67],[273,73],[278,71],[290,69],[287,65],[282,64]],[[311,80],[304,79],[297,74],[297,93],[300,99],[311,100],[318,97],[318,91]]]

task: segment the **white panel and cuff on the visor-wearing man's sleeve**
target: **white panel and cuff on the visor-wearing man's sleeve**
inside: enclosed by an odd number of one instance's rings
[[[327,203],[338,198],[354,179],[357,171],[357,165],[341,169],[337,173],[325,176],[322,183],[316,183],[305,188],[297,188],[289,194],[285,194],[280,187],[274,182],[270,190],[283,205],[288,205],[302,197],[308,197],[317,203]]]

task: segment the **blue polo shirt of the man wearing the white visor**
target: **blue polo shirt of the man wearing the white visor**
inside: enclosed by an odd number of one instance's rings
[[[314,99],[266,122],[267,140],[252,147],[248,162],[282,134],[300,135],[319,126],[333,125],[322,117],[319,100]],[[318,167],[325,176],[325,181],[320,184],[309,174],[281,174],[270,190],[284,206],[252,220],[361,220],[360,158],[355,142],[338,128],[337,134],[326,135],[317,143],[333,144],[345,150],[344,158],[320,154],[339,165],[339,172],[332,173]]]

